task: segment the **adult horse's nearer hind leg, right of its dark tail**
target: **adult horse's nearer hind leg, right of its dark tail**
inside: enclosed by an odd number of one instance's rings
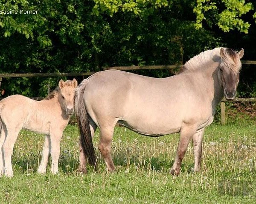
[[[100,129],[99,150],[110,172],[115,170],[115,165],[111,158],[111,142],[113,139],[114,126]]]

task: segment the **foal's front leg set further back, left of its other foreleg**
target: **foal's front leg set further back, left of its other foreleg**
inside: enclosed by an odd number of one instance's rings
[[[49,154],[50,154],[50,136],[46,135],[45,139],[44,139],[44,147],[43,147],[43,151],[42,151],[42,159],[41,159],[41,163],[40,166],[38,167],[38,173],[45,173],[46,172],[46,167],[47,167],[47,163],[48,163],[48,158],[49,158]]]

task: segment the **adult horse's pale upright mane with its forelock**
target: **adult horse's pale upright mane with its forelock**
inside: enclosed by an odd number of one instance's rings
[[[217,58],[219,58],[220,61],[220,50],[221,48],[215,48],[213,50],[201,52],[195,57],[192,57],[185,63],[185,65],[183,65],[179,73],[183,71],[196,70],[197,68],[202,67],[202,65],[209,62],[217,62]],[[224,48],[224,50],[226,54],[224,55],[222,62],[235,73],[239,73],[241,69],[241,61],[237,55],[237,51],[233,51],[230,48]]]

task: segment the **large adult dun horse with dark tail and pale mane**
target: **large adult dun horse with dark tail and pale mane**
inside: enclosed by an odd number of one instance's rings
[[[221,99],[235,98],[243,54],[243,49],[204,51],[186,62],[179,74],[162,79],[117,70],[98,72],[84,79],[75,94],[81,134],[80,170],[86,172],[86,157],[90,164],[96,164],[92,144],[96,127],[100,129],[99,150],[107,168],[115,169],[111,141],[117,122],[146,136],[180,132],[170,173],[180,173],[190,139],[194,171],[200,170],[204,129],[212,123]]]

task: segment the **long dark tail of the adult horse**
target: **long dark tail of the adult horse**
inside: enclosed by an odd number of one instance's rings
[[[93,140],[90,131],[88,113],[86,111],[84,103],[84,89],[87,81],[84,80],[76,88],[75,92],[75,112],[77,117],[77,123],[80,130],[81,146],[85,156],[88,158],[88,162],[96,167],[96,154],[93,147]]]

